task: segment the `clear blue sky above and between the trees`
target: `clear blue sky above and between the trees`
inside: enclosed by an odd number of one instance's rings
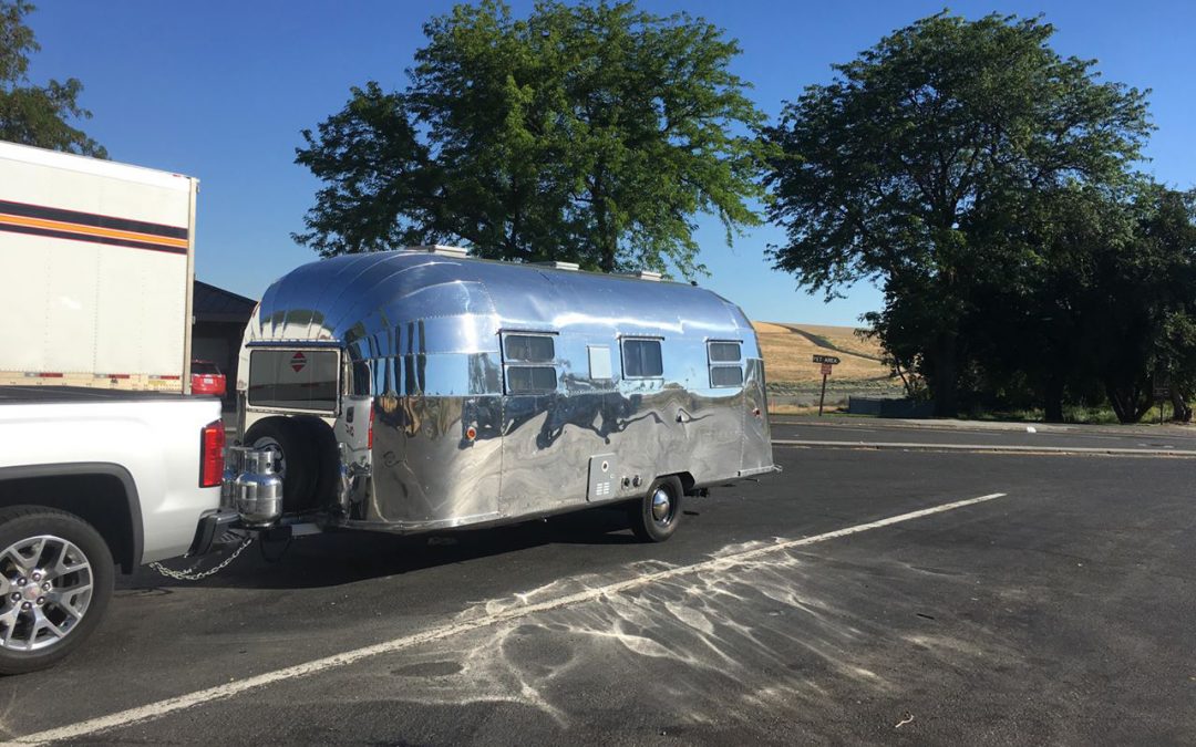
[[[421,26],[452,2],[208,0],[163,2],[37,0],[30,23],[43,50],[35,81],[74,75],[94,118],[85,129],[121,161],[201,179],[197,276],[251,298],[288,269],[315,259],[289,234],[303,227],[318,183],[293,164],[299,130],[338,111],[348,88],[405,85]],[[530,2],[512,4],[525,12]],[[830,78],[883,35],[942,10],[942,2],[643,1],[684,10],[739,39],[736,72],[755,84],[769,116],[811,82]],[[1196,184],[1196,2],[958,2],[956,13],[1044,13],[1066,55],[1096,57],[1106,79],[1153,90],[1158,131],[1146,165],[1180,188]],[[724,243],[716,221],[698,240],[712,276],[702,281],[755,319],[854,324],[880,302],[862,284],[824,304],[771,270],[764,249],[776,228]]]

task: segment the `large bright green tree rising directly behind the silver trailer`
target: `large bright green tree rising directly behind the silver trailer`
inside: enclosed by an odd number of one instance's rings
[[[734,41],[631,2],[459,5],[425,25],[410,85],[353,88],[303,133],[325,182],[295,239],[324,256],[460,241],[605,271],[704,270],[692,232],[758,224],[764,146]]]

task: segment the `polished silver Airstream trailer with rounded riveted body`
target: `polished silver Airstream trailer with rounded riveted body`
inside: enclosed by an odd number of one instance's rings
[[[237,388],[226,500],[249,527],[415,533],[623,502],[659,541],[685,495],[774,469],[748,319],[648,273],[441,246],[316,262],[267,290]]]

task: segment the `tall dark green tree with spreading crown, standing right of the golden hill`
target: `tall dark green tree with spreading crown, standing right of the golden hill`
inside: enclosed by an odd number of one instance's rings
[[[1052,32],[1041,18],[925,18],[834,66],[765,131],[785,153],[769,179],[787,233],[777,269],[828,295],[879,281],[879,319],[902,317],[880,330],[916,336],[940,415],[957,410],[977,289],[1035,262],[1002,229],[1030,195],[1123,180],[1149,131],[1145,94],[1061,57]]]

